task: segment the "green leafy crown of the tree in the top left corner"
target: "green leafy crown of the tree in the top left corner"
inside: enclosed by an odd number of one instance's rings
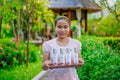
[[[22,2],[18,0],[6,0],[0,6],[0,16],[3,17],[5,23],[11,23],[12,20],[17,19],[17,10],[22,8]]]

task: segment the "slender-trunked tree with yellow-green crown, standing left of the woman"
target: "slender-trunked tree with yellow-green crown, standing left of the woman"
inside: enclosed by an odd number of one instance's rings
[[[30,30],[35,27],[34,25],[38,25],[38,22],[35,22],[36,20],[39,20],[39,23],[42,23],[43,21],[52,21],[52,16],[50,11],[47,7],[47,0],[25,0],[23,3],[23,29],[24,32],[27,33],[27,53],[26,53],[26,64],[29,65],[29,34]],[[39,7],[38,7],[39,6]]]

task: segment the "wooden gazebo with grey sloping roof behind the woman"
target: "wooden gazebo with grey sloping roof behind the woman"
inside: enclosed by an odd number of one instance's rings
[[[69,20],[78,20],[80,27],[82,21],[85,23],[85,32],[88,31],[87,14],[101,10],[97,4],[91,0],[49,0],[51,9],[55,15],[65,15]]]

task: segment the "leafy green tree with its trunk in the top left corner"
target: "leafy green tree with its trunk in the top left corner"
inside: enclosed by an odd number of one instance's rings
[[[20,9],[22,4],[19,0],[3,0],[1,1],[0,16],[5,24],[12,25],[13,35],[16,37],[20,33]],[[2,24],[0,24],[2,26]]]

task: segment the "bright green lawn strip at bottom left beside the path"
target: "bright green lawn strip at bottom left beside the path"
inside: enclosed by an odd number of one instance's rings
[[[31,80],[41,70],[41,61],[30,63],[28,68],[23,64],[21,66],[0,69],[0,80]]]

